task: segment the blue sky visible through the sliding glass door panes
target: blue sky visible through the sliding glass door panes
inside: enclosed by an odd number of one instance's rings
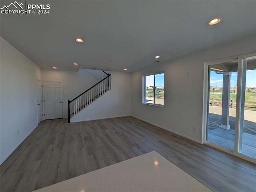
[[[230,87],[234,87],[237,82],[237,72],[232,72],[230,77]],[[223,74],[210,73],[210,86],[222,87]],[[246,87],[256,87],[256,69],[246,71]]]

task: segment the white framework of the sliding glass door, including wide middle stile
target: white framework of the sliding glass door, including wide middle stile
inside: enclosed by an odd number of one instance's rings
[[[221,151],[224,151],[226,153],[229,153],[231,155],[234,155],[236,157],[240,157],[242,159],[245,159],[246,161],[250,161],[252,163],[256,163],[256,159],[253,159],[251,157],[248,157],[246,155],[243,155],[242,152],[242,134],[243,134],[243,118],[244,118],[244,90],[246,79],[246,59],[247,57],[255,56],[256,52],[248,53],[244,55],[238,55],[234,57],[228,57],[224,59],[218,59],[215,61],[210,62],[204,62],[204,90],[203,90],[203,117],[202,117],[202,143],[212,146],[214,148],[220,149]],[[219,63],[225,63],[229,61],[238,61],[238,77],[237,77],[237,95],[236,95],[236,125],[235,125],[235,141],[234,141],[234,150],[228,149],[226,147],[223,147],[221,145],[212,143],[210,141],[207,141],[207,123],[208,123],[208,99],[209,99],[209,93],[208,93],[208,82],[209,82],[209,66],[215,65]]]

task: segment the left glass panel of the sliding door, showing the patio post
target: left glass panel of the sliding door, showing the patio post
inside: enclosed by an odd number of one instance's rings
[[[207,140],[234,149],[238,61],[209,65]]]

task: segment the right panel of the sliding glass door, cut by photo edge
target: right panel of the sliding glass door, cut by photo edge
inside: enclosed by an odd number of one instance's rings
[[[238,153],[256,159],[256,56],[241,62]]]

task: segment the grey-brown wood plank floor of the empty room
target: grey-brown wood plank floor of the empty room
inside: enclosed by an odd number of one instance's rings
[[[36,190],[150,151],[213,191],[256,189],[256,165],[129,116],[42,121],[0,166],[0,191]]]

